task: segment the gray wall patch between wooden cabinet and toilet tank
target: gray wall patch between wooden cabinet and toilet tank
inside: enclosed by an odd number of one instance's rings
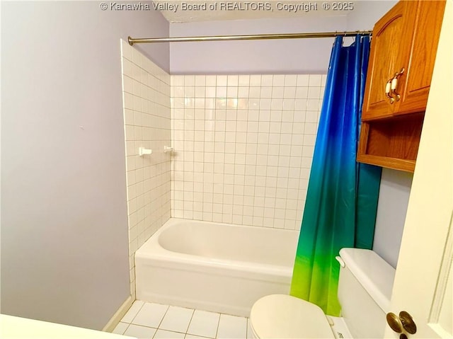
[[[396,268],[413,173],[382,169],[373,250]]]

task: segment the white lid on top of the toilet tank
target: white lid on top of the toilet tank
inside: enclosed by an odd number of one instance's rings
[[[389,312],[395,269],[377,253],[362,248],[342,248],[340,257],[379,307]]]

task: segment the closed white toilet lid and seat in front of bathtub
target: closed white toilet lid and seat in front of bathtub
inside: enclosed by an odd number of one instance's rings
[[[271,294],[253,304],[250,323],[256,338],[335,338],[319,306],[285,294]]]

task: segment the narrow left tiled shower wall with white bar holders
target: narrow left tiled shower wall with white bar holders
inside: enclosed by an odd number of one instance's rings
[[[170,218],[170,76],[127,42],[122,47],[127,213],[131,294],[135,296],[134,253]],[[139,147],[152,154],[139,156]]]

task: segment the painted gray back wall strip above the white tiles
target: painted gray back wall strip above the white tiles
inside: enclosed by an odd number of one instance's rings
[[[346,29],[346,16],[171,23],[170,34],[244,35]],[[171,74],[325,74],[332,39],[171,43]]]

